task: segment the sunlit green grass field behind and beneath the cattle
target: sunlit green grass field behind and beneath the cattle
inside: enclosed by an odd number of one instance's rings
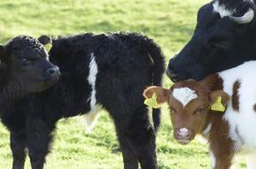
[[[137,31],[154,38],[163,48],[166,61],[183,48],[195,26],[198,8],[207,0],[1,0],[0,42],[28,34],[63,35],[82,32]],[[165,76],[164,86],[170,82]],[[166,107],[157,137],[160,169],[209,168],[207,145],[197,138],[182,146],[172,138]],[[80,117],[61,120],[56,130],[46,169],[119,169],[122,156],[115,149],[113,123],[108,113],[96,124],[95,132],[84,133]],[[11,167],[9,132],[0,125],[0,169]],[[244,168],[243,163],[237,164]],[[26,168],[30,168],[26,161]]]

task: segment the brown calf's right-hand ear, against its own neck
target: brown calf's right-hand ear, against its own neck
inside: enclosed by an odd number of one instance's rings
[[[221,104],[226,106],[230,101],[230,95],[225,93],[223,90],[213,91],[210,95],[212,104],[215,104],[219,98],[221,98]]]

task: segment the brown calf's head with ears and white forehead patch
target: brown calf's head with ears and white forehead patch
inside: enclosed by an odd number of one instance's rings
[[[151,98],[155,93],[158,104],[167,103],[173,127],[173,136],[180,144],[188,144],[201,132],[209,120],[209,110],[218,97],[226,104],[229,95],[224,91],[209,91],[200,82],[177,82],[171,89],[148,87],[143,95]]]

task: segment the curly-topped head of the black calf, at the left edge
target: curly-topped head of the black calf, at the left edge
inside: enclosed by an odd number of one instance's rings
[[[57,82],[59,68],[49,62],[44,44],[51,39],[19,36],[0,45],[1,85],[12,84],[22,91],[39,92]],[[4,77],[3,77],[4,76]],[[5,83],[5,84],[4,84]],[[17,89],[17,88],[16,88]]]

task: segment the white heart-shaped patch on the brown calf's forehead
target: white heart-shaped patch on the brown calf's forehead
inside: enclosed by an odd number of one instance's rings
[[[185,107],[193,99],[197,98],[197,94],[189,87],[174,88],[172,96],[177,99],[183,107]]]

